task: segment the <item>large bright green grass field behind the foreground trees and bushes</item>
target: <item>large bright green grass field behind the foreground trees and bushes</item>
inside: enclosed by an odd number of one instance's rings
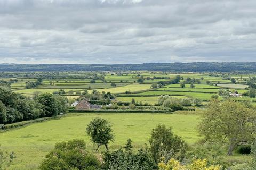
[[[70,139],[84,139],[87,147],[94,151],[89,137],[85,133],[86,125],[94,117],[105,118],[113,124],[115,142],[110,149],[118,149],[131,138],[135,149],[148,142],[151,129],[158,123],[172,126],[175,134],[180,135],[188,143],[199,139],[196,125],[198,115],[186,114],[68,114],[59,120],[35,123],[24,128],[0,133],[3,149],[14,151],[17,158],[10,169],[37,169],[38,165],[56,142]],[[101,150],[103,147],[101,148]]]

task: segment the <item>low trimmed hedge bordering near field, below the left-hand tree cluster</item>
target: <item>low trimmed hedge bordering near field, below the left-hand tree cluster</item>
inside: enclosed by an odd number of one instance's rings
[[[49,121],[49,120],[54,120],[54,119],[59,119],[62,116],[55,116],[55,117],[43,117],[43,118],[37,118],[34,120],[29,120],[29,121],[22,121],[22,122],[17,122],[17,123],[11,123],[11,124],[0,124],[0,133],[5,132],[14,128],[19,128],[21,126],[25,126],[28,124],[32,123],[37,123],[37,122],[44,122],[44,121]]]

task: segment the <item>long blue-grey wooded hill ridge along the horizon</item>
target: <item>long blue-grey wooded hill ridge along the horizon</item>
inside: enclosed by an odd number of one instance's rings
[[[255,72],[256,63],[194,62],[144,64],[0,64],[1,72],[30,71],[172,71],[172,72]]]

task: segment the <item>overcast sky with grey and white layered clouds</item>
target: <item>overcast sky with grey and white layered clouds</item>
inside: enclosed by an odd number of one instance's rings
[[[0,0],[0,63],[256,62],[255,0]]]

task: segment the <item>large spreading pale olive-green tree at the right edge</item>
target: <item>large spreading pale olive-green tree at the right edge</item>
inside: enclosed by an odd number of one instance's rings
[[[214,99],[202,115],[198,131],[205,141],[226,142],[228,155],[234,148],[252,141],[256,132],[255,109],[249,103]]]

